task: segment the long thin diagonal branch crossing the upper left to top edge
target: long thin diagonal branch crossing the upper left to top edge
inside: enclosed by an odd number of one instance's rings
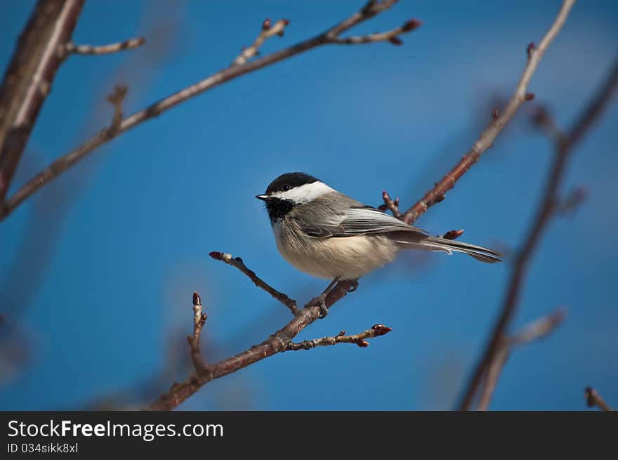
[[[24,202],[25,199],[31,196],[34,192],[37,192],[37,190],[54,178],[57,178],[60,174],[67,171],[67,169],[79,162],[80,159],[84,158],[97,147],[100,147],[100,145],[103,145],[111,139],[120,136],[122,133],[129,131],[129,129],[138,126],[144,121],[159,116],[163,112],[166,112],[166,110],[170,110],[172,107],[185,102],[185,100],[195,97],[200,93],[204,93],[204,91],[209,91],[210,89],[224,84],[232,79],[241,77],[242,75],[250,72],[255,72],[263,67],[278,63],[281,60],[291,58],[294,55],[309,51],[310,49],[317,48],[318,46],[336,44],[336,39],[338,39],[339,34],[345,32],[351,27],[354,27],[355,25],[360,24],[361,22],[364,22],[365,20],[368,20],[369,18],[373,18],[375,15],[378,15],[393,6],[393,4],[395,4],[395,0],[368,1],[360,11],[351,15],[346,20],[339,22],[330,29],[327,29],[325,32],[322,32],[322,34],[319,34],[316,37],[301,41],[293,46],[290,46],[289,48],[284,48],[281,51],[265,55],[263,58],[250,60],[241,65],[232,65],[226,69],[220,70],[219,72],[198,81],[196,84],[188,86],[177,93],[173,93],[171,96],[163,98],[162,100],[145,107],[143,110],[139,110],[131,116],[126,117],[122,120],[117,130],[113,131],[110,128],[105,128],[99,131],[96,135],[87,140],[86,143],[80,145],[75,150],[68,152],[62,157],[59,157],[46,169],[39,172],[36,176],[34,176],[34,178],[25,183],[25,185],[22,185],[22,187],[15,192],[13,196],[8,198],[1,207],[0,219],[6,218],[6,216],[13,212],[17,206]]]

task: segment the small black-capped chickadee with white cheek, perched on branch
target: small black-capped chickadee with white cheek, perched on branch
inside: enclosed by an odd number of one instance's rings
[[[338,280],[358,280],[392,262],[403,249],[456,251],[482,262],[500,261],[497,251],[430,236],[305,173],[282,174],[256,198],[266,202],[281,255],[302,272],[333,280],[324,296]]]

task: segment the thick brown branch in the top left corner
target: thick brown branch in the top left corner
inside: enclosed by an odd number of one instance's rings
[[[39,0],[0,85],[0,203],[4,202],[84,0]]]

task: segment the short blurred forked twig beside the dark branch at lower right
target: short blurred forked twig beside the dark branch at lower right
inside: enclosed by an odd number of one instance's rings
[[[551,315],[539,318],[539,320],[528,324],[506,341],[501,341],[499,351],[492,361],[492,365],[489,366],[487,370],[485,383],[483,384],[478,400],[477,410],[487,410],[489,407],[489,402],[491,402],[494,391],[496,390],[502,369],[504,369],[513,348],[548,336],[548,334],[551,334],[564,319],[564,311],[556,310],[551,313]]]

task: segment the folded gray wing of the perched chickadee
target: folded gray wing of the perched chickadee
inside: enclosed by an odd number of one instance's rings
[[[346,212],[331,213],[322,217],[319,224],[317,219],[313,222],[305,221],[301,223],[301,228],[307,235],[317,238],[351,237],[401,231],[427,235],[423,230],[407,225],[371,206],[361,205],[357,208],[348,208]]]

